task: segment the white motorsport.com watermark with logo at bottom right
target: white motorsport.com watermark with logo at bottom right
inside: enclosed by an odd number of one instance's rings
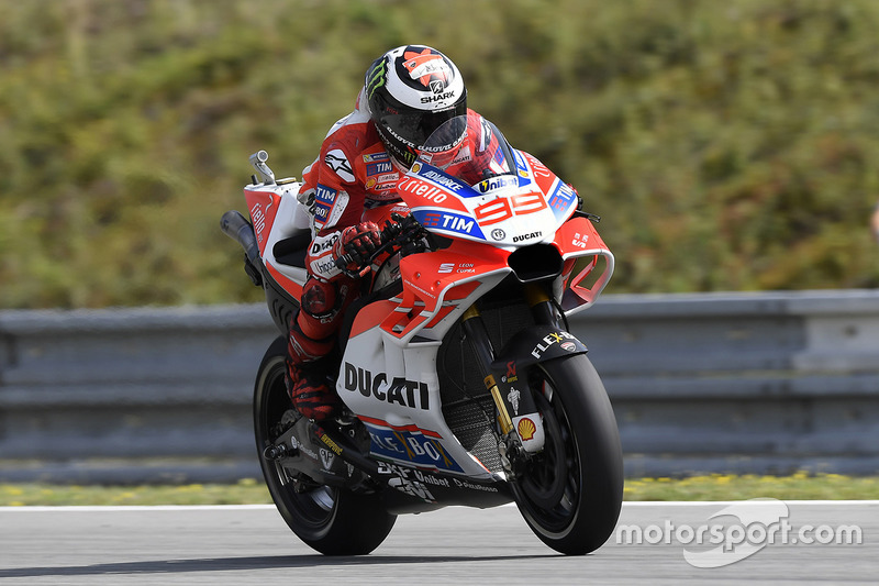
[[[802,524],[793,527],[788,506],[774,498],[755,498],[734,502],[709,517],[735,517],[737,522],[663,524],[647,527],[621,524],[616,528],[617,545],[683,545],[683,559],[694,567],[721,567],[733,564],[767,545],[859,545],[864,534],[858,526]],[[705,549],[704,545],[715,545]]]

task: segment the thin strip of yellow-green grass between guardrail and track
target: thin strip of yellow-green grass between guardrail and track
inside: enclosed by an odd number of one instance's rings
[[[810,476],[710,475],[688,478],[630,478],[626,500],[742,500],[771,497],[782,500],[879,499],[879,477],[838,474]],[[254,505],[270,504],[262,482],[180,486],[59,486],[0,484],[0,506],[114,505]]]

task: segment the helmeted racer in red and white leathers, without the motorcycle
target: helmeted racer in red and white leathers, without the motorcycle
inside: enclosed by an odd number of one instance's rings
[[[303,170],[300,197],[314,215],[305,257],[309,278],[288,336],[287,389],[302,414],[334,417],[341,400],[327,375],[343,316],[359,286],[335,264],[347,254],[355,269],[380,245],[369,210],[399,201],[396,186],[434,130],[453,125],[443,148],[431,153],[439,167],[492,157],[497,145],[483,119],[467,109],[467,90],[452,60],[423,45],[400,46],[367,69],[355,109],[327,133],[318,158]],[[497,165],[497,164],[496,164]],[[475,178],[479,180],[479,178]]]

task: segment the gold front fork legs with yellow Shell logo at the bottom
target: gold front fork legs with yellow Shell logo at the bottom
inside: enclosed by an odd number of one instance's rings
[[[549,296],[536,284],[525,285],[525,299],[538,324],[555,324],[555,309]],[[494,349],[491,345],[486,325],[476,306],[464,313],[464,333],[470,341],[481,373],[483,383],[494,400],[500,428],[500,455],[504,469],[515,475],[519,466],[530,454],[541,452],[545,433],[543,417],[531,394],[527,380],[519,379],[515,361],[505,365],[505,373],[492,368]],[[520,390],[524,387],[524,392]]]

